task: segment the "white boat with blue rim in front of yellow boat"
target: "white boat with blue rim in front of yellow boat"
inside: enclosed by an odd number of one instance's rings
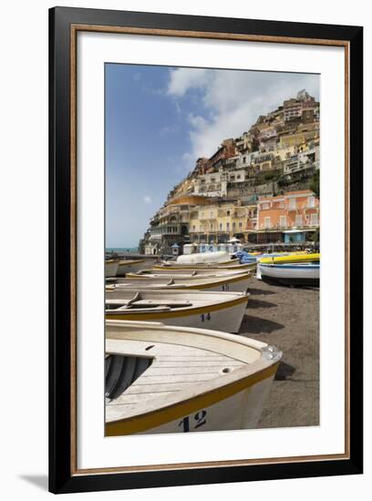
[[[319,263],[269,264],[259,263],[258,272],[263,281],[288,285],[319,285]]]

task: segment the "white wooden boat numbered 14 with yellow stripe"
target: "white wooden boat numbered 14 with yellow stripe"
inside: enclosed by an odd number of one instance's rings
[[[106,291],[106,318],[239,332],[247,302],[243,292],[116,288]]]

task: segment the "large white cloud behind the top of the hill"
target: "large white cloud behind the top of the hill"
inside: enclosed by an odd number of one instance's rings
[[[319,77],[199,68],[171,70],[167,93],[176,103],[182,102],[188,92],[199,90],[201,114],[189,113],[187,117],[191,150],[183,159],[190,161],[192,169],[196,158],[210,157],[223,139],[240,136],[259,115],[282,105],[302,88],[318,99]]]

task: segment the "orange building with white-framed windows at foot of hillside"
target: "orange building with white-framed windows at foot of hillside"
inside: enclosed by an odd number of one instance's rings
[[[304,241],[319,227],[319,199],[310,189],[278,197],[259,197],[258,241]]]

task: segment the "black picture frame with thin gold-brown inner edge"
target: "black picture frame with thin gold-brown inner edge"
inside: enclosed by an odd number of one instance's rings
[[[94,31],[345,50],[343,454],[79,470],[77,463],[77,34]],[[362,473],[362,48],[359,26],[55,7],[49,12],[49,489],[53,493]]]

